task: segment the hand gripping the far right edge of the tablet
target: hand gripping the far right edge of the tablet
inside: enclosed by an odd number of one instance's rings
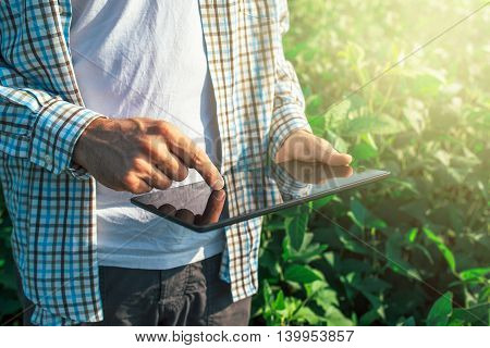
[[[279,149],[275,163],[286,161],[323,162],[329,165],[348,165],[352,157],[339,153],[329,141],[306,130],[292,133]]]

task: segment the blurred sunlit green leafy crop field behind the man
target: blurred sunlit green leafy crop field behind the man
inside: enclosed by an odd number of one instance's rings
[[[315,133],[392,175],[266,217],[252,324],[489,324],[490,7],[350,96],[483,3],[289,1]],[[10,233],[0,198],[2,323]]]

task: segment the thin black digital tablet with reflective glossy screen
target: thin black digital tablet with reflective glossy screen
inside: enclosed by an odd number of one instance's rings
[[[387,177],[382,170],[291,161],[224,173],[225,186],[205,182],[135,196],[131,202],[162,219],[207,232],[291,208]]]

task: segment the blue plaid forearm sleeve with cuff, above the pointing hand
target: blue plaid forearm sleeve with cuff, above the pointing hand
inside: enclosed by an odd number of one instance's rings
[[[53,174],[66,171],[87,178],[88,173],[72,163],[72,154],[88,124],[102,115],[25,85],[0,60],[0,151],[27,158]]]

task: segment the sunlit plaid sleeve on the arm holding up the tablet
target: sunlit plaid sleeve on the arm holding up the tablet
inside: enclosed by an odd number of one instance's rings
[[[293,65],[285,59],[282,37],[289,29],[287,1],[279,1],[280,41],[275,58],[274,104],[270,127],[269,156],[273,160],[287,136],[297,129],[309,133],[311,127],[305,115],[305,99]]]

